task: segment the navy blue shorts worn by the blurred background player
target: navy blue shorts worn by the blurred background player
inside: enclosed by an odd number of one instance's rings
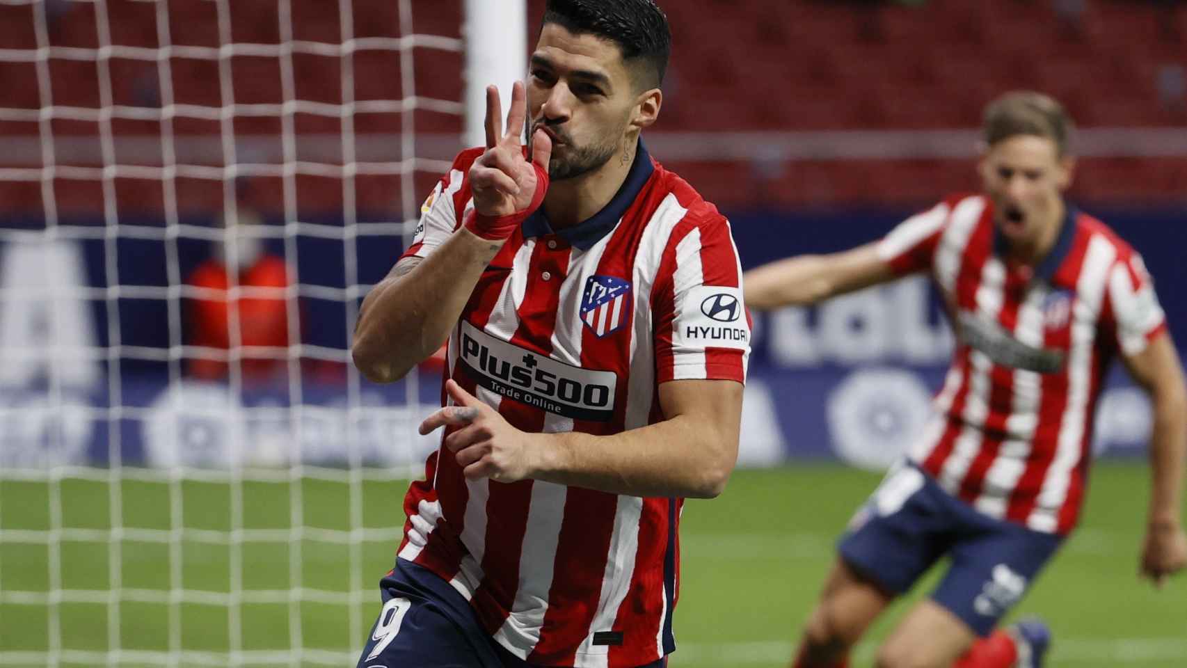
[[[951,556],[932,599],[988,636],[1062,540],[978,513],[903,464],[857,511],[838,551],[853,571],[893,594],[906,593],[941,556]]]

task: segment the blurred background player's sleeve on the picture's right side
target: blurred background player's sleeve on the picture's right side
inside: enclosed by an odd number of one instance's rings
[[[1118,260],[1109,272],[1109,307],[1117,346],[1137,355],[1166,329],[1167,318],[1141,255]]]

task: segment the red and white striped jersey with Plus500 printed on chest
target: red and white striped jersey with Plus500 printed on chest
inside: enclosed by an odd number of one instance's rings
[[[440,180],[405,256],[427,256],[458,229],[481,153],[462,153]],[[450,336],[447,374],[525,431],[660,421],[660,383],[744,382],[741,274],[725,218],[640,142],[596,216],[553,231],[541,210],[507,240]],[[531,664],[642,666],[675,647],[681,503],[468,481],[442,448],[405,498],[399,555],[449,581]]]

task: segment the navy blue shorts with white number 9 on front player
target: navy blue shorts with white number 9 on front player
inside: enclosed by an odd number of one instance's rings
[[[436,573],[404,559],[380,581],[383,609],[358,668],[544,668],[495,642],[474,609]],[[662,668],[665,660],[640,668]]]

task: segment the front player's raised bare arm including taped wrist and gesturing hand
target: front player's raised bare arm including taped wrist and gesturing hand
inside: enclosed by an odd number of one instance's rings
[[[507,132],[499,89],[487,89],[487,151],[470,167],[474,212],[427,257],[400,260],[363,299],[351,356],[374,382],[398,381],[449,336],[483,269],[547,190],[552,141],[537,132],[528,163],[520,144],[527,98],[512,90]]]

